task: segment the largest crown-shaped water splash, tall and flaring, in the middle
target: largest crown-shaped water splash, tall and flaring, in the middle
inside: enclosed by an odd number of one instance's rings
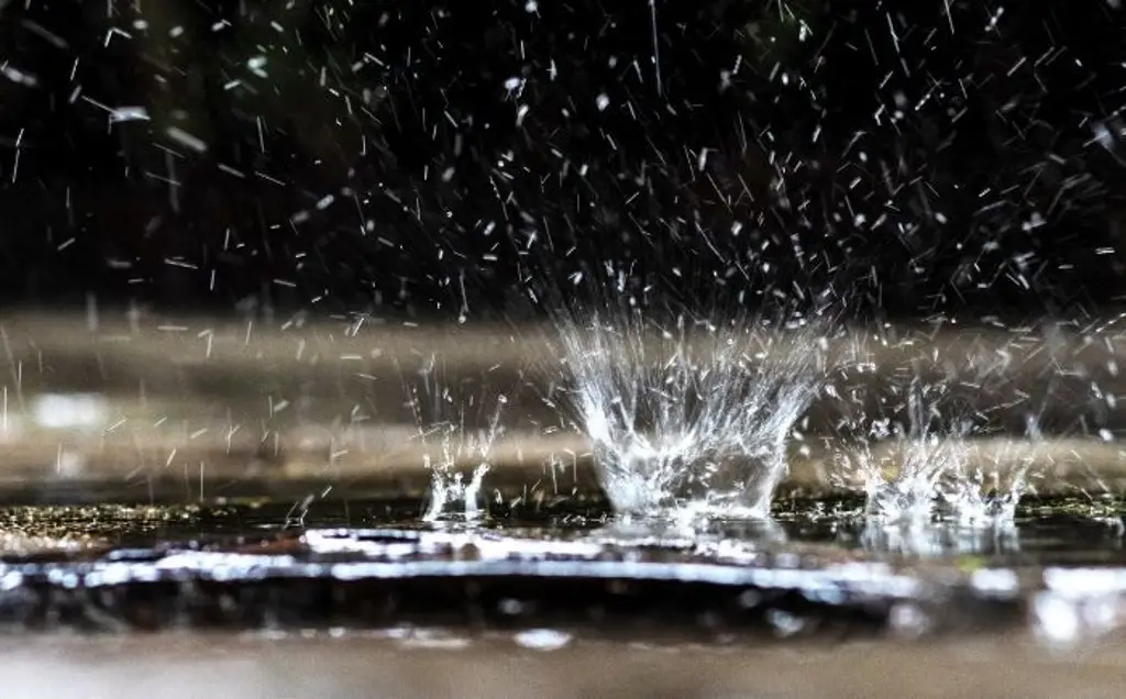
[[[682,316],[662,329],[637,310],[563,323],[579,428],[615,511],[769,516],[816,389],[811,334]]]

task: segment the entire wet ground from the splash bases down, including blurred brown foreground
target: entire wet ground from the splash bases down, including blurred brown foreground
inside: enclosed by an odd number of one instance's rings
[[[421,504],[0,509],[5,694],[1120,696],[1116,502],[917,532],[855,499],[694,530]]]

